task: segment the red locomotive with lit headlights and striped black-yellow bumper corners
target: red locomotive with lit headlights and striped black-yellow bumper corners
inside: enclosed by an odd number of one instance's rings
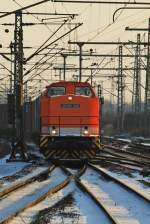
[[[99,98],[89,83],[47,86],[40,122],[40,149],[47,159],[91,159],[100,148]]]

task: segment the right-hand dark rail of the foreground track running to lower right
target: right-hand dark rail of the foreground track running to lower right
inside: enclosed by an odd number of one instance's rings
[[[118,183],[119,185],[121,185],[122,187],[129,189],[131,192],[135,193],[137,196],[141,197],[142,199],[144,199],[146,202],[150,202],[150,198],[146,197],[142,192],[140,192],[138,189],[135,189],[133,187],[131,187],[129,184],[125,184],[124,181],[114,177],[113,175],[108,174],[107,172],[105,172],[104,170],[102,170],[101,168],[98,168],[90,163],[88,163],[88,166],[91,167],[92,169],[94,169],[95,171],[99,172],[100,174],[103,174],[105,176],[107,176],[109,179],[115,181],[116,183]]]

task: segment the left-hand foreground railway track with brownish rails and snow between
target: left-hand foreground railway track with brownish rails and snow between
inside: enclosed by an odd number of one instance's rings
[[[70,182],[71,177],[66,178],[59,168],[51,167],[48,173],[50,175],[48,178],[45,177],[44,172],[40,176],[37,175],[32,179],[15,183],[13,187],[11,186],[1,193],[0,223],[7,223],[23,210],[39,203]],[[41,179],[42,176],[45,180]]]

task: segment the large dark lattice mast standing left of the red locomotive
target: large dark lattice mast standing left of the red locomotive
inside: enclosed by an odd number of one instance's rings
[[[14,108],[16,139],[12,143],[10,160],[17,159],[19,151],[21,160],[26,160],[24,145],[24,111],[23,111],[23,29],[22,11],[15,12],[14,32]]]

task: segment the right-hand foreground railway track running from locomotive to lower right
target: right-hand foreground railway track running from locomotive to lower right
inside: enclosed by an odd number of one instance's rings
[[[131,186],[127,185],[127,183],[123,183],[117,178],[113,178],[111,175],[109,175],[106,171],[101,170],[91,164],[88,164],[87,169],[92,169],[91,172],[91,178],[88,180],[83,180],[83,175],[76,176],[75,181],[77,185],[83,190],[84,192],[88,193],[88,195],[96,202],[96,204],[102,208],[105,213],[108,215],[108,217],[111,219],[112,223],[142,223],[140,222],[136,217],[132,217],[130,214],[130,209],[123,207],[122,205],[118,205],[119,203],[115,200],[112,200],[109,196],[109,193],[104,191],[100,186],[98,186],[98,177],[94,180],[94,182],[91,181],[93,176],[93,170],[97,173],[103,173],[103,176],[107,176],[106,180],[108,181],[108,178],[110,180],[113,179],[115,183],[117,183],[119,186],[123,189],[125,189],[126,192],[129,192],[130,194],[133,194],[134,198],[138,198],[138,200],[142,201],[142,205],[145,204],[147,214],[148,208],[149,208],[149,197],[143,195],[143,193],[139,193],[136,190],[134,190]],[[84,173],[86,174],[86,169],[84,169]],[[106,183],[105,183],[106,184]],[[107,189],[108,190],[108,189]],[[117,193],[117,192],[116,192]],[[128,193],[128,194],[129,194]],[[136,194],[136,195],[135,195]],[[138,206],[138,209],[140,208],[140,205]],[[139,210],[140,212],[140,210]],[[147,220],[145,223],[149,223]]]

